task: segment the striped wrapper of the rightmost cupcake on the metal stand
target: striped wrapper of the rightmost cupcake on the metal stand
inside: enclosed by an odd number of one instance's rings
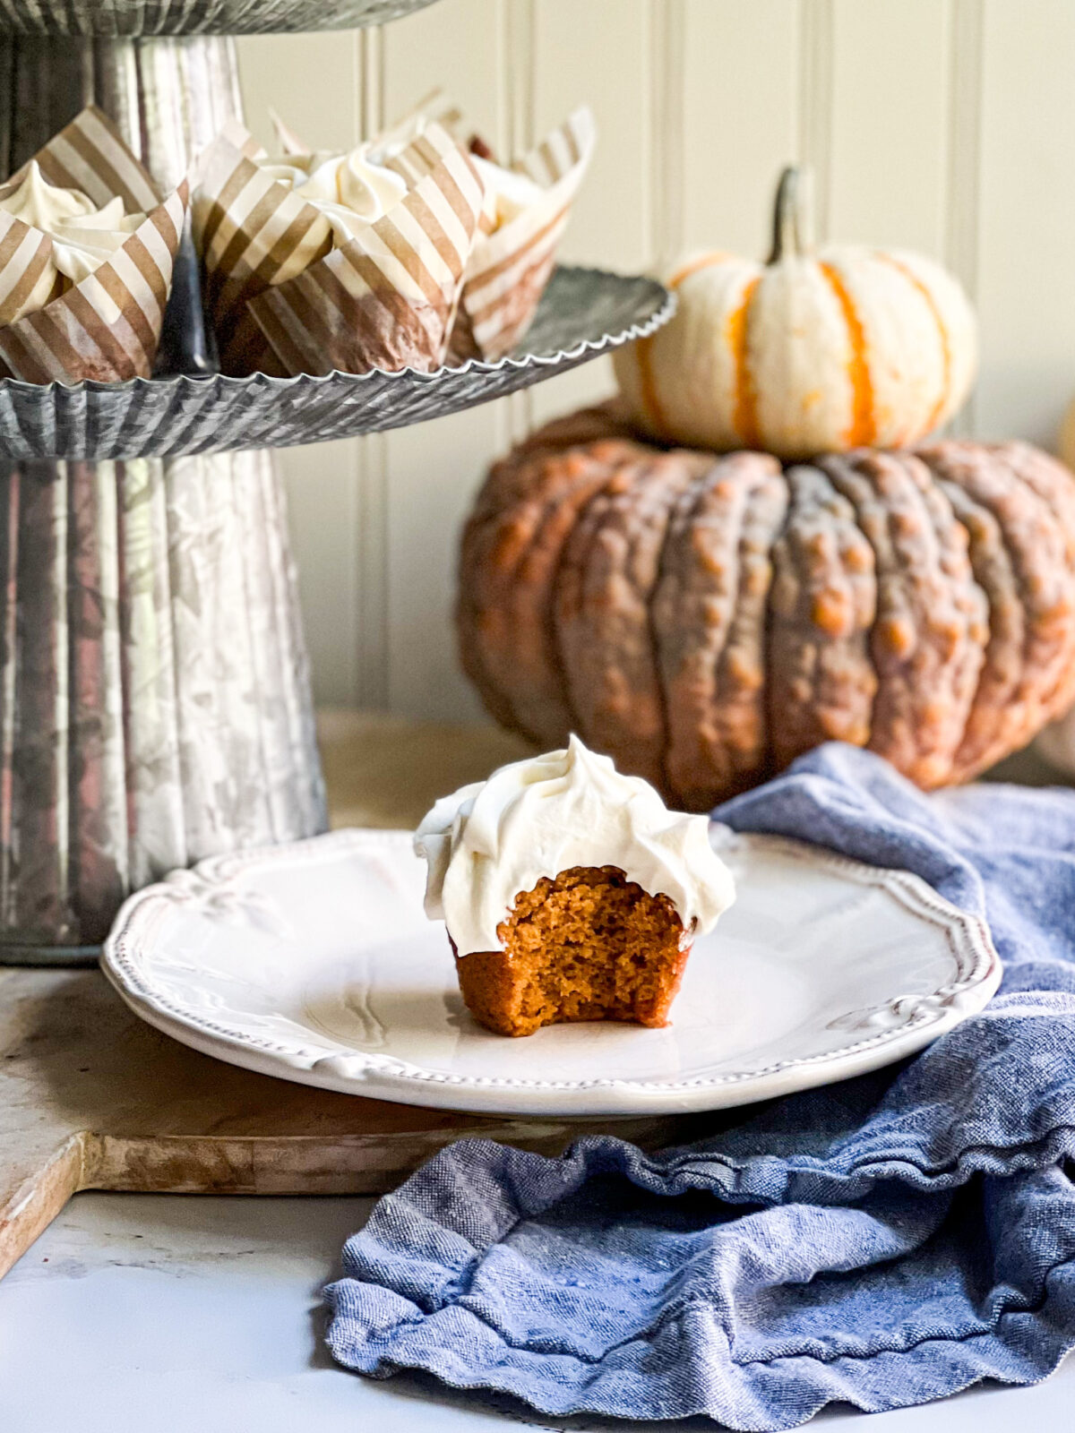
[[[452,335],[450,361],[484,358],[494,363],[526,334],[549,282],[595,142],[593,115],[583,106],[512,165],[533,179],[543,193],[540,201],[474,245]]]

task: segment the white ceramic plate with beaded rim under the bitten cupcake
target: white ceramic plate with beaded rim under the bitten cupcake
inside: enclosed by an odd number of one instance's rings
[[[527,1039],[467,1015],[403,831],[212,857],[132,896],[103,967],[206,1055],[377,1099],[489,1113],[745,1105],[887,1065],[980,1010],[985,924],[906,871],[712,827],[738,898],[695,941],[672,1025]]]

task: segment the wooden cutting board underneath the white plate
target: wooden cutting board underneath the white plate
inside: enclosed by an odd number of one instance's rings
[[[525,749],[490,728],[354,715],[321,737],[337,825],[413,825]],[[152,1030],[96,970],[0,969],[0,1275],[79,1189],[380,1194],[463,1136],[558,1154],[598,1129],[658,1146],[698,1128],[483,1119],[310,1089]]]

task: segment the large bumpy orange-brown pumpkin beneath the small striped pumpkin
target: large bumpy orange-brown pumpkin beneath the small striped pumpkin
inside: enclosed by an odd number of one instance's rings
[[[457,619],[500,722],[688,810],[830,738],[963,781],[1075,698],[1075,474],[1022,443],[781,467],[586,410],[490,470]]]

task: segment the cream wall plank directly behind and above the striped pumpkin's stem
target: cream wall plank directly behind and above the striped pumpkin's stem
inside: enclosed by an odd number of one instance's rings
[[[780,171],[798,155],[800,6],[687,0],[678,248],[764,258]]]

